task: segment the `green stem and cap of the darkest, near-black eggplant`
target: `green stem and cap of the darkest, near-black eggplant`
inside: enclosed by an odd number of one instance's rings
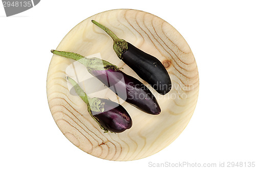
[[[122,54],[128,50],[128,42],[126,42],[123,39],[118,38],[109,28],[106,28],[105,26],[101,25],[95,20],[92,20],[92,22],[101,28],[103,31],[105,31],[110,37],[113,39],[113,49],[116,52],[119,59],[122,59]]]

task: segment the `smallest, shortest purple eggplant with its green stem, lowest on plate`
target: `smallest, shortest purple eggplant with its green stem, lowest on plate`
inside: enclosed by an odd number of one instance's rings
[[[88,112],[104,133],[121,133],[132,127],[132,118],[121,105],[107,99],[89,98],[73,79],[66,78],[74,86],[77,95],[87,104]]]

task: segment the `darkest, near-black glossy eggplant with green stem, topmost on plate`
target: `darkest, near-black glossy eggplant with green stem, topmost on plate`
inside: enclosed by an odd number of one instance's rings
[[[147,54],[131,43],[118,38],[110,29],[95,20],[92,22],[113,39],[113,49],[119,59],[131,67],[135,73],[159,94],[166,94],[172,88],[169,74],[163,64],[154,56]]]

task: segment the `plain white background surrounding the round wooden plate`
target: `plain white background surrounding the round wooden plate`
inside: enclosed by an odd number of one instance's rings
[[[45,0],[6,17],[1,4],[0,168],[256,161],[255,7],[255,1]],[[200,77],[198,104],[182,134],[157,154],[128,162],[75,147],[56,126],[46,95],[50,50],[80,21],[119,8],[150,12],[174,26],[193,51]]]

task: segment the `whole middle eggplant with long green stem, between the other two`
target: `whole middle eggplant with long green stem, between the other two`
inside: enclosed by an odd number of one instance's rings
[[[157,115],[161,112],[160,106],[143,83],[136,78],[126,75],[116,65],[99,58],[86,58],[79,54],[51,51],[53,54],[77,60],[87,67],[88,72],[109,87],[122,100],[148,114]]]

